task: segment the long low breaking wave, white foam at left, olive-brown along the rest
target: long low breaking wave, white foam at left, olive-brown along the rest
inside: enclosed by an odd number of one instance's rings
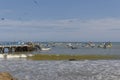
[[[113,54],[0,54],[1,59],[27,60],[119,60],[120,55]]]

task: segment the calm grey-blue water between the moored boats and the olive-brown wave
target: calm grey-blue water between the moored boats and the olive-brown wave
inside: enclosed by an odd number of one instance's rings
[[[112,47],[111,48],[98,48],[97,46],[100,44],[100,42],[95,43],[95,47],[82,47],[82,43],[80,42],[72,42],[74,46],[77,46],[77,49],[71,49],[66,47],[66,45],[70,42],[66,43],[55,43],[55,46],[51,47],[50,51],[41,51],[40,53],[43,54],[115,54],[119,55],[120,54],[120,42],[112,42]]]

